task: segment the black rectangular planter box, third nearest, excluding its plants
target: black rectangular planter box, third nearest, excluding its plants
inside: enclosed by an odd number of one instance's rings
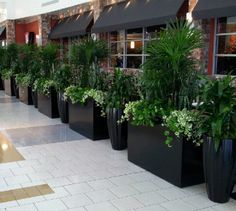
[[[42,93],[38,93],[38,110],[39,112],[50,118],[59,117],[57,106],[57,92],[55,91],[55,89],[51,89],[48,96]]]

